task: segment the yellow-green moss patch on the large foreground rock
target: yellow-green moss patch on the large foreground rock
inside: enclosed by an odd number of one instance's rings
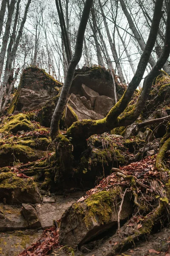
[[[90,195],[85,200],[88,207],[88,214],[84,217],[86,226],[89,225],[89,220],[92,218],[98,219],[100,224],[108,223],[112,214],[112,208],[115,205],[115,198],[120,194],[120,189],[110,189],[109,191],[101,191]]]

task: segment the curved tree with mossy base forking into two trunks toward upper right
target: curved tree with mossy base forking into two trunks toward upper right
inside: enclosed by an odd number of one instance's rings
[[[149,76],[147,76],[144,81],[144,87],[142,88],[141,95],[137,103],[137,112],[135,113],[135,115],[132,116],[129,116],[128,112],[125,115],[123,115],[123,117],[120,116],[120,114],[127,107],[127,104],[130,102],[135,89],[138,87],[138,85],[141,82],[141,79],[143,78],[145,69],[147,67],[147,63],[150,58],[150,54],[156,42],[159,23],[162,16],[162,13],[160,12],[162,4],[163,0],[156,0],[150,34],[144,52],[141,55],[135,75],[133,76],[133,79],[131,80],[122,98],[111,109],[111,111],[107,114],[107,116],[104,119],[97,121],[78,121],[75,122],[74,125],[72,125],[67,130],[66,136],[72,137],[73,146],[77,146],[77,148],[79,148],[77,150],[81,150],[81,148],[84,148],[86,139],[89,138],[92,134],[101,134],[106,131],[110,131],[115,127],[122,125],[126,126],[134,122],[135,119],[138,117],[139,113],[141,113],[142,109],[144,108],[144,102],[146,102],[148,93],[150,92],[150,87],[152,85],[153,78],[158,75],[158,71],[163,67],[164,63],[167,61],[167,58],[170,55],[170,5],[167,16],[167,28],[164,49],[156,65],[153,67],[153,69],[150,71]],[[149,86],[147,86],[148,82]]]

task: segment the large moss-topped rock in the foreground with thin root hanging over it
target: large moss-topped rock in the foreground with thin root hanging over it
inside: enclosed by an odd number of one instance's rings
[[[112,192],[101,191],[91,195],[85,201],[75,203],[64,212],[60,225],[60,243],[81,247],[99,234],[117,228],[118,200],[112,198]],[[121,201],[121,199],[119,199]],[[115,202],[115,203],[114,203]],[[126,196],[122,205],[120,221],[133,213],[133,203]]]

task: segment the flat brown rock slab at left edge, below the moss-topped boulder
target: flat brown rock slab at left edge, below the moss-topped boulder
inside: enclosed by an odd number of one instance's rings
[[[4,218],[0,219],[0,231],[22,230],[28,227],[26,220],[21,215],[20,207],[0,204],[0,209],[4,212]]]

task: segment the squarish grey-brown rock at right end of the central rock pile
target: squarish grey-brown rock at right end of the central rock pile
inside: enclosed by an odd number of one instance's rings
[[[109,113],[109,111],[114,106],[114,104],[115,104],[114,99],[104,95],[98,96],[95,99],[94,111],[101,114],[102,116],[107,116],[107,113]]]

